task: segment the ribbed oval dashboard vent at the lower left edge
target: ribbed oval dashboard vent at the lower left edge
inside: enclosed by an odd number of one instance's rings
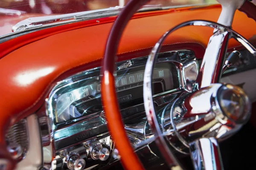
[[[19,161],[23,159],[29,147],[26,119],[20,120],[9,128],[6,143],[14,159]]]

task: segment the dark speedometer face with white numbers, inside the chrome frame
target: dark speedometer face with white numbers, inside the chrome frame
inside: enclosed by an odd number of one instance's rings
[[[143,103],[144,66],[117,71],[116,93],[120,108]],[[177,69],[173,63],[158,63],[153,71],[153,94],[160,94],[179,86],[173,79]],[[55,124],[102,111],[99,77],[84,79],[64,87],[55,99]]]

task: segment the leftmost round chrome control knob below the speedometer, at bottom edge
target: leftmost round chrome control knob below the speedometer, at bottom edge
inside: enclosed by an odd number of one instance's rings
[[[70,170],[83,170],[85,167],[84,159],[76,152],[70,153],[65,160],[67,168]]]

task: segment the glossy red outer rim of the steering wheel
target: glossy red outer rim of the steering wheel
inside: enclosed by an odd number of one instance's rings
[[[116,147],[119,150],[122,158],[121,161],[123,166],[125,169],[133,170],[143,170],[144,168],[134,153],[128,137],[126,136],[125,129],[123,128],[124,125],[122,123],[122,117],[119,113],[113,72],[117,47],[122,32],[131,16],[148,1],[149,0],[131,0],[119,14],[113,28],[111,29],[102,64],[102,105],[108,121],[108,129],[110,130],[113,139],[116,141]],[[225,26],[223,27],[227,28]],[[152,119],[152,117],[149,119]],[[132,167],[130,166],[131,162]]]

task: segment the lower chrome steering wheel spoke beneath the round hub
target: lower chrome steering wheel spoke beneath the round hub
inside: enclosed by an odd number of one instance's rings
[[[224,170],[215,138],[201,138],[189,144],[195,170]],[[210,161],[209,161],[210,160]]]

